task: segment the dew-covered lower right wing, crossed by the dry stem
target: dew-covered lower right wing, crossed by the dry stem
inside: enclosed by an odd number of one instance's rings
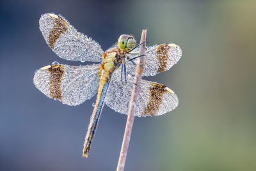
[[[127,114],[133,82],[133,76],[127,75],[127,82],[121,82],[118,73],[115,73],[106,94],[106,105],[116,112]],[[168,87],[156,82],[141,80],[135,115],[139,117],[163,115],[176,108],[178,103],[178,97]]]

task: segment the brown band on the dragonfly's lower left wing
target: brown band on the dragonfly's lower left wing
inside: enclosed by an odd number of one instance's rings
[[[64,68],[60,64],[52,64],[48,70],[50,73],[50,96],[61,101],[61,78]]]

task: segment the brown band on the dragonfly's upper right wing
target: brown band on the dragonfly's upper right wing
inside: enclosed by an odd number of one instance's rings
[[[159,45],[157,47],[156,55],[158,59],[158,70],[157,73],[165,71],[167,67],[167,61],[168,61],[168,52],[170,50],[170,47],[168,44]]]

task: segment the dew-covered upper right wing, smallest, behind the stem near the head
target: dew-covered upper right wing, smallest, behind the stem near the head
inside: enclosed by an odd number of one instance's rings
[[[170,68],[180,60],[182,51],[178,45],[165,43],[147,47],[145,54],[147,56],[145,56],[143,76],[152,76],[162,71],[170,70]],[[129,57],[132,59],[136,56],[138,56],[138,48],[132,51],[132,54]],[[134,59],[133,61],[137,63],[138,59]],[[134,75],[136,65],[127,60],[126,66],[127,72]]]

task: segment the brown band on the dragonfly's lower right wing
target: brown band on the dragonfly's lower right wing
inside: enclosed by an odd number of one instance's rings
[[[148,101],[147,107],[144,109],[142,115],[156,115],[159,106],[162,103],[163,95],[166,92],[165,85],[152,83],[150,90],[150,100]]]

